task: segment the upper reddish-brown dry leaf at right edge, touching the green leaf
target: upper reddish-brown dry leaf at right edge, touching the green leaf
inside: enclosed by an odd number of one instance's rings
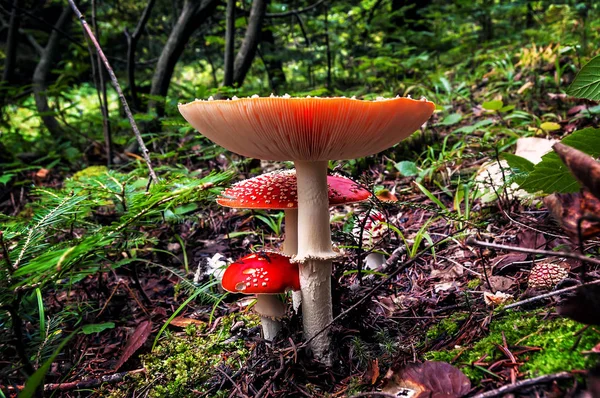
[[[600,199],[600,162],[585,152],[560,142],[554,144],[553,148],[575,178]]]

